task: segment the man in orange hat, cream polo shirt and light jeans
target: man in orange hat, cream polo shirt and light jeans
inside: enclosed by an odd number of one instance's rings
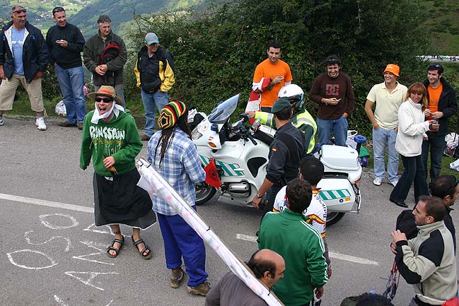
[[[387,146],[387,183],[395,186],[398,182],[398,152],[395,140],[398,131],[398,107],[405,101],[408,88],[398,83],[400,67],[388,64],[383,72],[384,82],[373,86],[367,96],[365,112],[373,124],[373,184],[380,186],[385,172],[385,148]],[[376,103],[373,113],[371,109]]]

